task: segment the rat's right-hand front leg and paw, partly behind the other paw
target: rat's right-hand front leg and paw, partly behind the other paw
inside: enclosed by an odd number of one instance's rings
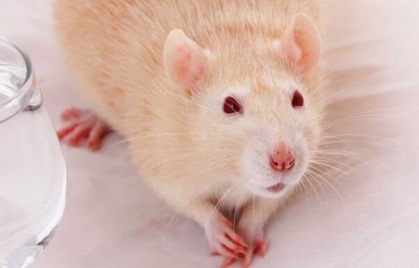
[[[267,242],[264,239],[264,225],[278,209],[279,200],[258,198],[244,207],[237,229],[243,235],[249,247],[242,260],[242,267],[251,264],[253,255],[264,256]],[[227,260],[226,260],[227,261]]]

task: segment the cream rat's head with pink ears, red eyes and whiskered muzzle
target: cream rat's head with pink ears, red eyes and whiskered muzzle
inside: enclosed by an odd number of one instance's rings
[[[190,93],[193,142],[218,180],[275,198],[300,182],[319,143],[319,33],[297,14],[280,40],[240,43],[210,52],[173,30],[164,65]]]

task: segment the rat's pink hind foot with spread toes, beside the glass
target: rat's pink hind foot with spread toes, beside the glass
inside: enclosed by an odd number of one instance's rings
[[[68,137],[68,145],[78,146],[82,139],[87,139],[90,150],[98,150],[104,137],[111,132],[111,127],[95,113],[89,110],[68,108],[61,113],[61,119],[68,124],[58,130],[58,139]]]

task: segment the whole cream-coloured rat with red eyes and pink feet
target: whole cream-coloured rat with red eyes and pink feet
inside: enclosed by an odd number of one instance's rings
[[[221,267],[264,255],[301,183],[326,100],[317,0],[56,0],[55,29],[93,111],[58,136],[125,136],[144,182],[205,229]]]

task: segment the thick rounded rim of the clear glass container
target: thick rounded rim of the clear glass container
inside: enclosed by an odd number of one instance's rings
[[[26,95],[26,93],[28,93],[30,91],[31,86],[32,86],[31,85],[32,84],[32,80],[33,80],[33,70],[32,70],[31,58],[29,58],[28,54],[26,54],[26,52],[24,52],[24,50],[22,50],[19,46],[17,46],[15,44],[15,42],[13,42],[13,41],[11,41],[11,40],[9,40],[7,38],[4,38],[3,36],[0,36],[0,42],[3,43],[4,45],[10,47],[11,49],[15,49],[20,54],[20,56],[22,56],[22,58],[24,60],[24,63],[26,65],[25,66],[26,67],[26,77],[24,79],[24,82],[23,82],[22,86],[20,86],[17,89],[15,95],[13,95],[12,97],[8,98],[7,100],[3,100],[3,101],[0,102],[0,113],[1,113],[1,109],[3,109],[4,107],[7,107],[7,105],[10,102],[13,102],[17,98]],[[28,101],[26,103],[22,104],[22,107],[19,107],[20,108],[19,111],[21,111],[22,109],[24,109],[24,107],[26,107],[26,105],[29,102],[29,99],[30,98],[28,98]],[[17,111],[17,113],[19,111]],[[15,115],[15,113],[12,116],[14,116],[14,115]],[[10,117],[12,117],[12,116],[10,116]],[[0,120],[0,122],[1,122],[1,120]]]

